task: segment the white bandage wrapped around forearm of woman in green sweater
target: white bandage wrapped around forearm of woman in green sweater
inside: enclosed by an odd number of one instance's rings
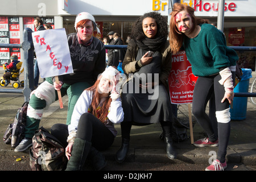
[[[226,93],[233,93],[234,86],[232,80],[232,73],[229,68],[225,68],[220,71],[221,80],[218,81],[221,85],[224,85]]]

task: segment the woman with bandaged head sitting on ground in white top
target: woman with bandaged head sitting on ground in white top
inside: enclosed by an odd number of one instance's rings
[[[56,124],[51,133],[66,147],[68,171],[78,171],[85,160],[92,162],[94,169],[105,167],[105,150],[114,142],[117,131],[114,123],[123,121],[123,108],[116,86],[120,73],[108,67],[93,86],[82,92],[73,110],[71,124]]]

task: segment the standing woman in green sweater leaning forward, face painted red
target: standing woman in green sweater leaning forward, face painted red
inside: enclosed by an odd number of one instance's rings
[[[195,9],[180,3],[174,4],[170,20],[170,46],[173,53],[184,49],[192,72],[198,76],[193,92],[192,112],[207,137],[194,142],[196,147],[218,146],[217,159],[206,168],[223,170],[226,165],[226,148],[230,135],[229,105],[234,98],[233,78],[236,72],[237,53],[226,46],[224,34],[207,20],[197,18]],[[214,134],[205,107],[214,93],[218,136]]]

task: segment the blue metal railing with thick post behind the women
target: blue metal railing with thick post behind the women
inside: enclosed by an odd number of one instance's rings
[[[24,101],[29,101],[30,93],[35,89],[34,85],[34,44],[32,41],[31,28],[23,31],[22,44],[0,44],[0,48],[22,48],[24,52],[24,88],[23,89],[0,89],[0,93],[23,93]],[[105,45],[106,49],[127,49],[126,45]],[[256,51],[256,47],[230,46],[236,51]],[[256,93],[234,93],[235,97],[256,97]]]

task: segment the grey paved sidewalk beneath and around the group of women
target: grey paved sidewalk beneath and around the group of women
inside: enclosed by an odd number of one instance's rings
[[[0,68],[1,69],[1,68]],[[0,73],[1,74],[1,73]],[[253,73],[253,78],[256,73]],[[253,81],[250,78],[250,82]],[[39,81],[40,82],[40,81]],[[11,88],[11,86],[8,86]],[[22,94],[1,93],[0,94],[0,135],[3,136],[7,126],[13,122],[16,110],[22,106],[24,97]],[[59,101],[53,103],[48,111],[43,114],[40,122],[41,126],[50,129],[55,123],[65,123],[67,116],[67,96],[63,97],[64,108],[60,109]],[[250,99],[247,102],[246,119],[242,121],[231,121],[231,134],[228,146],[228,163],[245,164],[246,166],[256,166],[256,106],[251,104]],[[179,105],[179,119],[188,119],[188,105]],[[192,117],[193,121],[195,120]],[[121,130],[119,125],[115,125],[118,135],[104,155],[108,160],[115,160],[115,152],[121,146]],[[131,142],[127,162],[150,162],[150,163],[191,163],[191,164],[209,164],[209,159],[218,147],[194,147],[191,144],[191,138],[184,142],[175,143],[177,148],[177,159],[167,158],[164,150],[164,143],[159,139],[162,128],[159,123],[147,126],[133,126],[131,129]],[[187,131],[190,136],[190,131]],[[198,123],[193,127],[193,140],[204,138],[204,130]],[[28,156],[28,151],[21,152]],[[0,156],[17,155],[14,148],[10,145],[0,142]]]

